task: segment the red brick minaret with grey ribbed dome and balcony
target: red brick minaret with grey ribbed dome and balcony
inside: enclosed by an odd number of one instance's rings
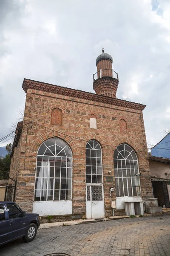
[[[93,88],[96,94],[116,98],[119,78],[112,69],[112,63],[112,56],[102,48],[102,54],[96,58],[97,72],[93,75]]]

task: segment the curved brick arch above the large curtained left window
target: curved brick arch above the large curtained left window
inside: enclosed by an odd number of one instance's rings
[[[34,141],[34,143],[31,145],[31,148],[30,148],[29,152],[37,154],[37,151],[40,148],[40,145],[45,140],[51,139],[53,137],[58,137],[59,139],[64,140],[69,145],[69,147],[71,148],[73,156],[78,156],[79,157],[79,149],[78,149],[76,143],[74,142],[74,140],[71,137],[69,137],[69,136],[67,136],[65,134],[62,134],[60,131],[57,131],[57,130],[55,130],[55,131],[48,131],[48,132],[45,132],[45,133],[41,134]]]

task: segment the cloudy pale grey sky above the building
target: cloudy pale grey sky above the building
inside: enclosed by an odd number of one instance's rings
[[[170,0],[0,0],[0,138],[25,104],[24,78],[94,92],[102,47],[119,73],[117,98],[147,105],[147,141],[161,140],[170,128]]]

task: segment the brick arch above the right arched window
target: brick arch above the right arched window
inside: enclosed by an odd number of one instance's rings
[[[142,149],[144,149],[144,148],[140,148],[139,146],[136,145],[136,143],[133,140],[130,140],[129,138],[126,138],[126,137],[121,137],[121,138],[113,141],[112,145],[110,146],[110,148],[108,150],[108,155],[110,157],[113,157],[113,154],[114,154],[114,151],[115,151],[116,147],[119,146],[122,143],[126,143],[126,144],[130,145],[130,147],[133,148],[133,150],[136,153],[136,156],[139,159],[140,154],[142,152],[140,152],[140,153],[138,153],[138,152],[142,151]]]

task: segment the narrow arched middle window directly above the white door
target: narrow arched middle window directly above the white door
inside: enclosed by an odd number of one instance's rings
[[[86,144],[86,183],[103,183],[102,150],[96,140]]]

